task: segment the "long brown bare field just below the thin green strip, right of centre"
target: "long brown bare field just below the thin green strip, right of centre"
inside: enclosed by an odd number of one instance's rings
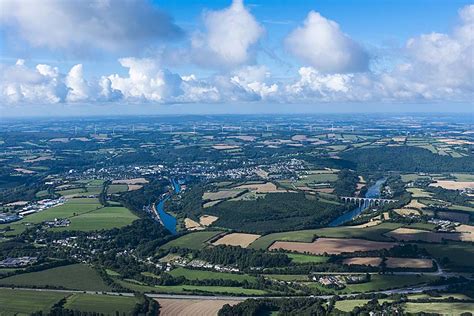
[[[341,254],[345,252],[389,249],[397,245],[393,242],[369,241],[355,238],[318,238],[312,243],[276,241],[269,250],[284,249],[312,254]]]

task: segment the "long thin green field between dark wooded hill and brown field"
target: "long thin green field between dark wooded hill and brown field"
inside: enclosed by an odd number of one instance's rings
[[[384,236],[384,234],[400,226],[402,225],[397,223],[382,223],[367,228],[340,226],[274,233],[260,237],[250,245],[250,248],[267,249],[277,240],[311,242],[315,235],[319,237],[364,238],[376,241],[389,241],[390,239]]]

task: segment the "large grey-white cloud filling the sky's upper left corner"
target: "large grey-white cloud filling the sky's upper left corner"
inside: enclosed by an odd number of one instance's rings
[[[66,53],[136,51],[182,30],[149,1],[2,0],[0,23],[33,47]]]

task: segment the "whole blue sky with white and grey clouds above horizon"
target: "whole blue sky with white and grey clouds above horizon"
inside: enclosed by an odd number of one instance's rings
[[[462,0],[0,0],[0,116],[474,111]]]

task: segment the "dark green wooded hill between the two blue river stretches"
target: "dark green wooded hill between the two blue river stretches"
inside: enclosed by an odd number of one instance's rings
[[[322,227],[349,207],[310,199],[304,193],[271,193],[256,200],[224,201],[206,208],[206,213],[219,217],[213,226],[265,234]]]

